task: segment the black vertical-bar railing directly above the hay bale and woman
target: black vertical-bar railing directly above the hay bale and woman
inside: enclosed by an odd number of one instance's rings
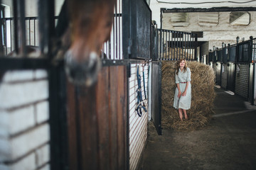
[[[197,55],[197,35],[195,33],[185,33],[176,30],[158,29],[159,60],[196,60]]]

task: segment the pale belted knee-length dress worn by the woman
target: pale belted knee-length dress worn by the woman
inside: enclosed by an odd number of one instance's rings
[[[191,81],[191,70],[187,67],[186,72],[181,72],[181,69],[178,69],[178,75],[175,71],[175,83],[179,84],[181,89],[181,97],[178,98],[178,88],[175,89],[174,94],[174,108],[182,108],[184,110],[188,110],[191,108],[191,83],[188,84],[188,89],[186,91],[186,96],[182,96],[183,91],[186,89],[186,83],[181,82],[188,82]]]

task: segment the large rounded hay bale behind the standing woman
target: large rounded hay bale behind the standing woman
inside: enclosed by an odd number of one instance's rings
[[[189,120],[181,121],[174,105],[176,61],[162,63],[162,126],[173,130],[196,130],[205,127],[213,114],[215,74],[213,69],[199,62],[188,62],[191,69],[191,109]]]

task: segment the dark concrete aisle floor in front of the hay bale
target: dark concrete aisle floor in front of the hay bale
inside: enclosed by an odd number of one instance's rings
[[[163,130],[149,126],[143,170],[256,169],[256,106],[215,88],[215,115],[203,130]]]

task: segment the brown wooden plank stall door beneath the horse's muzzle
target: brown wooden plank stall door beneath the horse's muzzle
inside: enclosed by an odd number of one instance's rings
[[[127,67],[103,67],[95,86],[67,91],[70,169],[127,169]]]

